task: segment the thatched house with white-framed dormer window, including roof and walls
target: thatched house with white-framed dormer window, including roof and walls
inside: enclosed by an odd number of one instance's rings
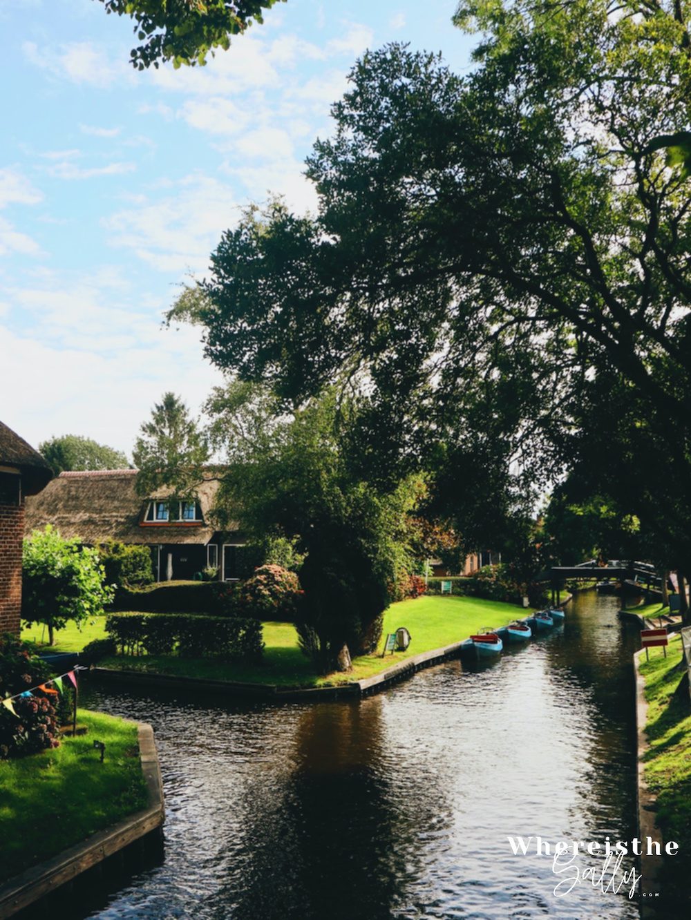
[[[135,469],[61,473],[27,502],[27,534],[51,523],[91,546],[109,539],[150,546],[157,581],[189,579],[207,567],[234,578],[235,547],[243,541],[236,532],[219,533],[211,520],[217,474],[207,474],[190,501],[171,500],[167,489],[142,499],[136,477]]]

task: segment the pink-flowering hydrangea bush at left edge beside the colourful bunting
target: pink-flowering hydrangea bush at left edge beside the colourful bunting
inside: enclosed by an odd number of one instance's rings
[[[10,634],[0,636],[0,699],[14,696],[50,680],[51,670],[29,647]],[[52,695],[20,697],[13,701],[17,716],[0,706],[0,758],[57,747],[57,701]],[[18,718],[17,718],[18,717]]]

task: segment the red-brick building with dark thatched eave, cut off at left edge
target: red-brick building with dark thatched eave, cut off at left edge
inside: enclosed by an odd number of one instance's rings
[[[38,451],[0,421],[0,632],[19,632],[24,500],[51,478]]]

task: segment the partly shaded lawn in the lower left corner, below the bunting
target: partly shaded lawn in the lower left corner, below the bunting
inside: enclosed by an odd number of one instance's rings
[[[86,735],[0,761],[0,880],[54,856],[146,805],[137,728],[79,711]],[[94,740],[104,742],[99,763]]]

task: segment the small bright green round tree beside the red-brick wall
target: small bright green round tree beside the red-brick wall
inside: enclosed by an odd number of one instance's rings
[[[54,630],[68,620],[79,626],[89,616],[103,614],[114,594],[105,579],[97,550],[77,539],[63,540],[48,524],[24,541],[22,618],[29,626],[45,624],[52,645]]]

